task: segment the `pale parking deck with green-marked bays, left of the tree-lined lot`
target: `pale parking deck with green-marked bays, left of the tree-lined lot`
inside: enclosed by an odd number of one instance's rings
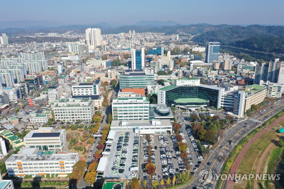
[[[139,166],[139,136],[131,130],[120,130],[114,134],[112,145],[108,146],[108,161],[106,163],[104,177],[128,178],[138,176]],[[130,170],[136,169],[136,170]]]

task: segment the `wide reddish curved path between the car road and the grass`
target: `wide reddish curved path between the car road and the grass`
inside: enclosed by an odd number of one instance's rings
[[[237,172],[239,165],[243,159],[243,157],[245,156],[245,153],[247,152],[247,150],[250,148],[250,146],[256,141],[256,139],[258,139],[261,135],[263,135],[264,133],[266,133],[266,131],[270,130],[272,127],[274,127],[276,124],[278,124],[279,122],[281,122],[284,119],[284,116],[278,118],[275,122],[273,122],[272,124],[270,124],[270,126],[264,128],[262,131],[260,131],[259,133],[257,133],[254,137],[252,137],[252,139],[249,140],[249,142],[243,147],[243,149],[241,150],[240,154],[237,156],[230,174],[233,175]],[[227,189],[233,189],[234,188],[234,181],[233,180],[228,180],[228,185],[227,185]]]

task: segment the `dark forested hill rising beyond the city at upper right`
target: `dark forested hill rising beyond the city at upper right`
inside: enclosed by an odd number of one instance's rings
[[[284,54],[284,26],[232,26],[206,31],[192,41],[218,41],[221,45]]]

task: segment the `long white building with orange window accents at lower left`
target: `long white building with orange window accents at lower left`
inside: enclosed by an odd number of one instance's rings
[[[39,148],[25,147],[19,154],[12,154],[5,162],[8,176],[42,176],[58,174],[66,177],[72,173],[73,165],[79,161],[79,153],[57,154]]]

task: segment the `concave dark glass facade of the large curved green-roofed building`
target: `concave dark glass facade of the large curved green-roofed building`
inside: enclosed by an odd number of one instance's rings
[[[178,86],[166,91],[166,105],[171,106],[179,98],[201,98],[209,101],[209,106],[218,107],[219,90],[202,86]],[[199,104],[196,104],[199,105]]]

